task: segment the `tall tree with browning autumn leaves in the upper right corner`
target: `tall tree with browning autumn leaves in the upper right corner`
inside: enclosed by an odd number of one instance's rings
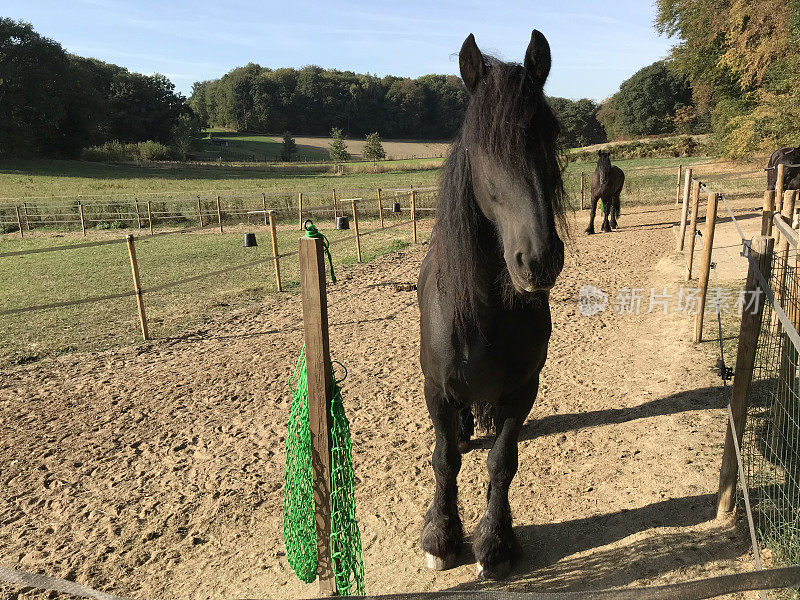
[[[658,0],[656,28],[680,39],[672,64],[698,119],[740,157],[800,138],[800,0]]]

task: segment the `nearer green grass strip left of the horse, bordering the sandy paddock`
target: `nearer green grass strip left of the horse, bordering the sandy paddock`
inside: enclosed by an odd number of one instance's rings
[[[408,219],[408,214],[387,215],[387,226]],[[332,242],[331,253],[337,271],[356,262],[353,231],[336,231],[332,215],[315,221]],[[242,234],[254,231],[258,247],[243,248]],[[361,231],[364,261],[403,248],[411,241],[410,225],[381,230],[374,220],[365,219]],[[421,224],[420,241],[429,227]],[[127,232],[100,232],[90,240],[122,240]],[[165,338],[189,329],[202,328],[207,321],[252,303],[276,298],[274,266],[269,230],[263,225],[227,228],[220,234],[209,227],[196,233],[150,237],[135,235],[141,285],[151,336]],[[59,236],[59,237],[56,237]],[[297,250],[298,228],[281,226],[279,252]],[[0,254],[18,250],[82,243],[79,234],[45,233],[30,238],[0,238]],[[148,289],[227,269],[236,265],[265,262],[222,273],[175,287],[148,293]],[[285,292],[299,289],[297,257],[281,259]],[[125,243],[29,254],[0,256],[0,311],[27,306],[68,302],[93,296],[129,292],[133,289]],[[266,309],[268,310],[268,308]],[[22,364],[73,351],[99,351],[141,343],[133,296],[62,308],[0,316],[0,368]]]

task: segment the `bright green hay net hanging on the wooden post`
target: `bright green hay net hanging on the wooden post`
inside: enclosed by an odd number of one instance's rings
[[[350,424],[344,414],[340,382],[334,378],[331,402],[331,556],[337,593],[363,596],[364,562],[356,521]],[[292,406],[286,436],[283,540],[289,565],[301,581],[311,583],[317,577],[318,556],[305,346],[289,387]]]

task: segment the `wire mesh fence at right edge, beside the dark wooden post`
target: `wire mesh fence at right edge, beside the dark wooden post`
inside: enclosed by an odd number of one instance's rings
[[[791,246],[772,254],[769,287],[790,323],[765,302],[742,447],[758,533],[775,564],[800,563],[800,361],[787,326],[800,324],[797,266]]]

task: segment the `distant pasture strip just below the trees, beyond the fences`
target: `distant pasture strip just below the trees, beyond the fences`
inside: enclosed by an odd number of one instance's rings
[[[708,163],[704,158],[650,158],[615,161],[627,173],[623,203],[652,204],[669,197],[674,190],[678,164]],[[382,172],[372,172],[371,163],[356,165],[361,172],[335,175],[293,171],[291,167],[244,167],[231,165],[106,165],[83,161],[36,160],[0,161],[0,202],[48,197],[77,199],[84,204],[93,195],[192,196],[236,191],[296,193],[326,189],[426,187],[436,185],[441,159],[381,161]],[[586,173],[587,190],[594,163],[570,163],[564,173],[567,192],[579,197],[580,173]],[[743,167],[743,168],[746,168]],[[704,165],[706,172],[714,165]],[[760,185],[760,183],[759,183]],[[761,186],[763,188],[763,186]],[[761,189],[759,188],[759,189]],[[588,191],[587,191],[588,196]],[[627,198],[627,199],[626,199]],[[3,200],[11,199],[11,200]],[[100,201],[97,199],[97,201]]]

